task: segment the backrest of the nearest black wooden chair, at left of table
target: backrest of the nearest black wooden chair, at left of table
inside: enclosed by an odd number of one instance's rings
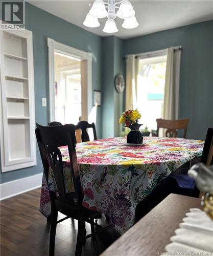
[[[48,181],[49,163],[53,169],[54,178],[57,185],[61,201],[66,201],[63,162],[60,152],[60,146],[68,146],[69,160],[70,160],[70,173],[74,181],[75,198],[79,207],[81,206],[83,197],[81,190],[81,182],[78,171],[78,162],[76,156],[76,137],[75,125],[65,124],[59,126],[42,126],[36,123],[36,138],[40,150],[43,168]]]

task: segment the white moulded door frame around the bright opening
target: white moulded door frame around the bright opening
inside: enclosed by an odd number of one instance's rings
[[[48,37],[48,66],[49,66],[49,106],[50,122],[55,121],[55,61],[54,52],[72,56],[81,60],[87,60],[87,87],[82,88],[82,99],[84,99],[84,113],[82,119],[88,120],[88,115],[92,108],[92,53],[84,52],[76,48],[61,44]],[[86,101],[86,102],[85,102]]]

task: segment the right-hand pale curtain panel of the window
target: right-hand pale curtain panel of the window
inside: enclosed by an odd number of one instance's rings
[[[174,47],[167,51],[163,119],[178,119],[181,50]]]

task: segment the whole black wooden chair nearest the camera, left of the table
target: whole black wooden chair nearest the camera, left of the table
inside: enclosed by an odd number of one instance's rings
[[[75,255],[81,255],[83,241],[95,234],[112,227],[109,225],[94,231],[94,218],[100,215],[100,212],[89,210],[82,206],[82,187],[80,182],[77,156],[75,150],[75,125],[65,124],[59,126],[41,126],[36,123],[36,138],[39,146],[41,160],[44,168],[46,180],[49,178],[49,163],[53,169],[53,175],[57,186],[57,191],[50,190],[51,198],[51,231],[50,231],[50,250],[49,254],[54,255],[55,236],[57,223],[73,218],[78,220],[78,234]],[[73,193],[65,192],[63,162],[60,152],[60,146],[68,146],[70,159],[70,175],[74,181]],[[58,211],[66,217],[57,221]],[[91,225],[91,234],[86,235],[85,222]]]

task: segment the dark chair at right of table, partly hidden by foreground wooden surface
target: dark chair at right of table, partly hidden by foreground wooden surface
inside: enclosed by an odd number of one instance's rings
[[[201,162],[206,165],[213,164],[213,128],[209,128],[206,134],[206,139],[201,156]],[[177,174],[178,175],[178,174]],[[195,181],[192,179],[192,187],[184,188],[180,187],[177,182],[176,174],[171,174],[169,177],[159,183],[143,201],[141,201],[135,209],[135,222],[146,215],[152,208],[160,203],[164,198],[171,193],[184,196],[199,197],[200,191],[195,185]],[[188,180],[187,174],[181,173],[181,178]]]

